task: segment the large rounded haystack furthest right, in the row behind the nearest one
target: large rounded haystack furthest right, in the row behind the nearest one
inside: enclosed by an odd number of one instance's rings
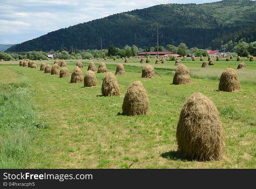
[[[232,68],[226,68],[221,74],[219,91],[234,92],[240,90],[240,82],[237,72]]]

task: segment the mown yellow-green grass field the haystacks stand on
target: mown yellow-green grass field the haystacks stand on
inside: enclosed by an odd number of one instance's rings
[[[225,68],[237,68],[236,60],[226,62],[223,58],[209,69],[201,69],[202,61],[198,58],[183,60],[190,71],[191,85],[172,85],[175,61],[155,65],[152,58],[150,64],[163,78],[156,74],[155,79],[142,79],[145,64],[140,64],[140,59],[129,59],[129,63],[122,59],[106,60],[108,71],[115,74],[116,64],[123,63],[127,73],[116,76],[121,92],[118,97],[101,96],[106,74],[96,73],[97,87],[70,83],[77,60],[66,60],[69,78],[39,71],[42,61],[35,61],[37,69],[19,67],[18,61],[1,62],[0,91],[10,92],[10,83],[28,82],[31,102],[38,115],[36,123],[42,125],[36,127],[24,156],[27,163],[20,166],[16,162],[16,167],[256,168],[256,62],[242,60],[247,67],[237,70],[241,90],[234,93],[218,91],[218,83]],[[97,67],[102,60],[81,61],[85,66],[84,76],[90,61]],[[53,65],[53,60],[43,62]],[[125,92],[136,80],[147,91],[149,114],[120,115]],[[185,100],[196,91],[212,100],[220,113],[226,140],[225,158],[220,161],[191,161],[176,153],[179,113]]]

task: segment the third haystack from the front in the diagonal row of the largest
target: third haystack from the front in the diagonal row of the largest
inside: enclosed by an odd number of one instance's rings
[[[111,72],[109,72],[103,79],[101,93],[103,96],[120,96],[118,82]]]

